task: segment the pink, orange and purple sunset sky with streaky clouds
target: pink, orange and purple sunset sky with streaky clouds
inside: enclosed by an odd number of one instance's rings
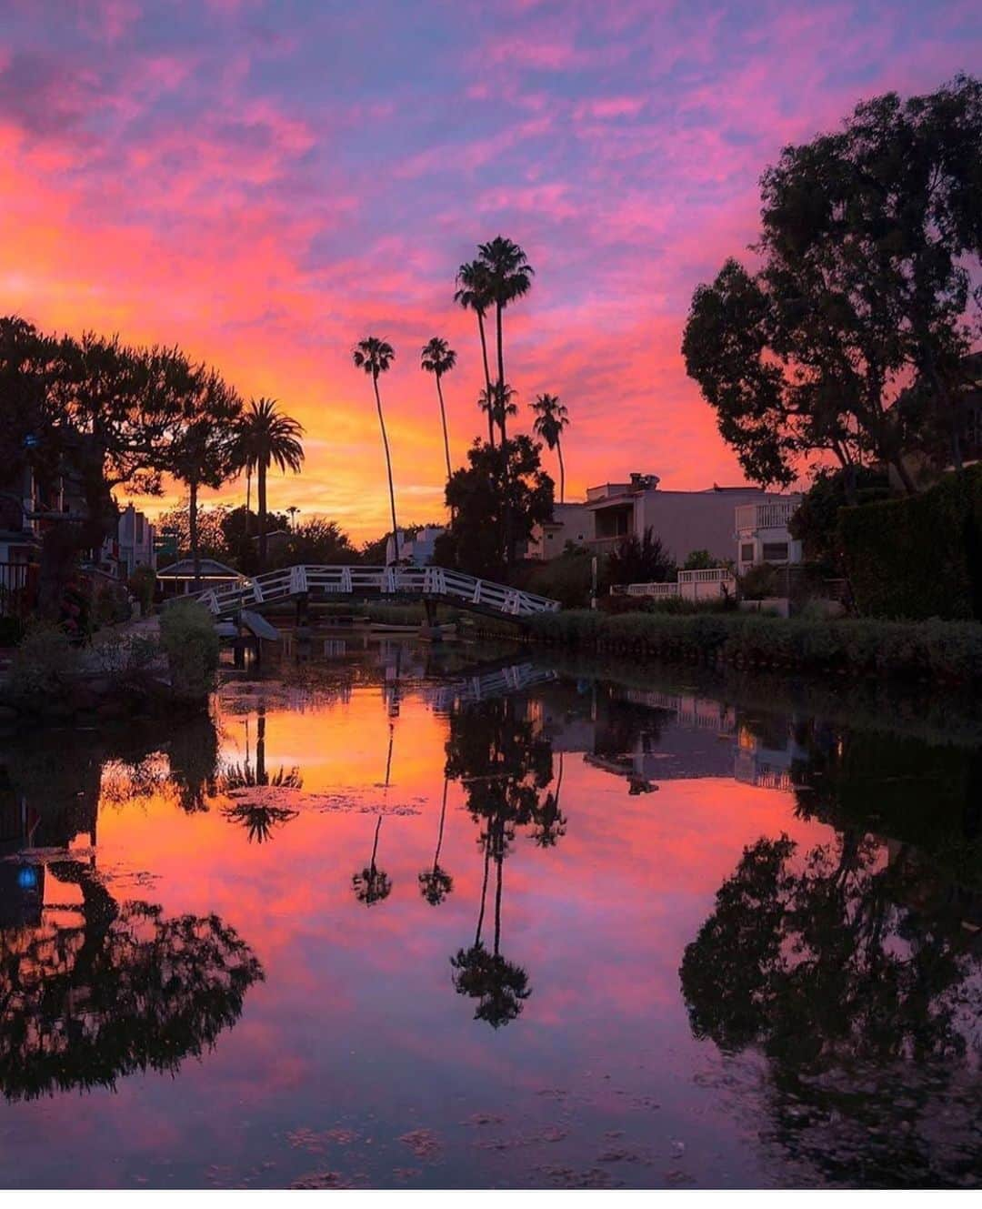
[[[632,470],[738,484],[680,355],[693,289],[748,255],[781,146],[980,62],[974,0],[0,0],[0,311],[179,343],[275,398],[307,463],[271,507],[361,540],[388,496],[351,347],[394,345],[400,523],[440,519],[419,349],[458,351],[460,464],[483,374],[454,276],[500,233],[536,271],[505,323],[517,427],[560,395],[566,498]]]

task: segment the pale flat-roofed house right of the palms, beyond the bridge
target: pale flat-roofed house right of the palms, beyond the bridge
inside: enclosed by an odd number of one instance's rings
[[[670,491],[659,486],[656,474],[632,474],[627,481],[589,487],[583,503],[556,505],[552,526],[534,534],[530,550],[536,551],[533,556],[550,559],[562,553],[566,540],[575,540],[597,554],[609,554],[626,537],[643,538],[650,528],[678,563],[693,550],[708,550],[720,562],[728,562],[733,559],[734,508],[788,498],[761,487],[714,485],[703,491]]]

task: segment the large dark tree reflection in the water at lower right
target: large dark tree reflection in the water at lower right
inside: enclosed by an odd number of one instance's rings
[[[773,1136],[826,1178],[943,1184],[982,1140],[954,1089],[982,1042],[982,964],[957,919],[923,909],[924,883],[908,850],[887,863],[858,832],[803,860],[761,839],[685,950],[693,1034],[766,1055]]]

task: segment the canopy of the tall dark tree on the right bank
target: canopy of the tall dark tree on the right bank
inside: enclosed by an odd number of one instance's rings
[[[978,339],[966,307],[982,253],[982,83],[864,102],[841,131],[785,147],[761,191],[759,270],[730,259],[699,285],[682,341],[748,476],[789,484],[824,452],[847,470],[893,465],[913,491],[906,458],[929,426],[897,400],[916,375],[959,465],[953,400]]]

